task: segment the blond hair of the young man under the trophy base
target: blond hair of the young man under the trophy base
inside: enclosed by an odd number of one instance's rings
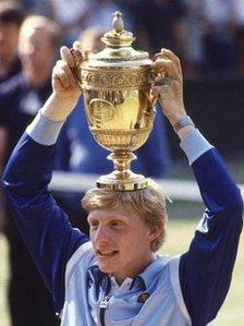
[[[166,239],[168,220],[166,195],[158,183],[149,179],[145,190],[111,191],[107,189],[91,189],[82,200],[82,206],[87,212],[98,208],[123,207],[127,212],[139,216],[149,227],[157,226],[160,234],[151,242],[150,249],[156,252]]]

